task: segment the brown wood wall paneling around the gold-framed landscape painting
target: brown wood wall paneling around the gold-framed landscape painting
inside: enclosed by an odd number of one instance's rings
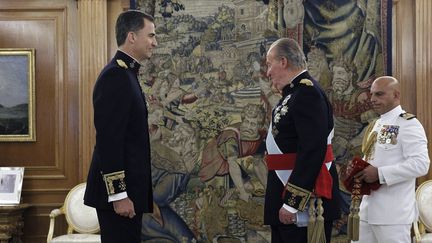
[[[74,0],[0,2],[0,47],[35,49],[36,142],[0,143],[1,166],[25,166],[24,242],[46,242],[49,212],[78,183],[76,13]]]

